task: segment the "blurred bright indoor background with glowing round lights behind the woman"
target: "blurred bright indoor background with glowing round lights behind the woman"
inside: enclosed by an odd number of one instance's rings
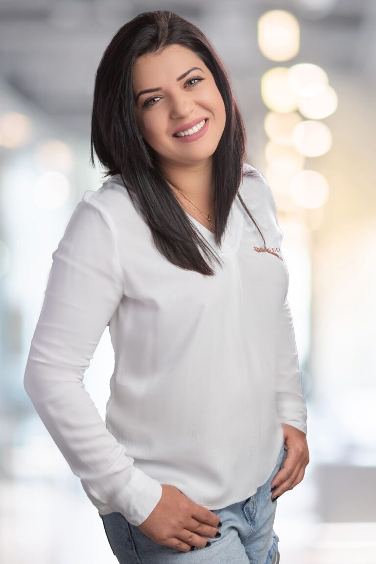
[[[160,9],[223,59],[284,232],[310,463],[277,501],[281,563],[375,564],[372,0],[0,0],[0,562],[117,562],[23,376],[52,252],[103,182],[89,165],[96,68],[126,21]],[[113,363],[107,328],[85,375],[103,418]]]

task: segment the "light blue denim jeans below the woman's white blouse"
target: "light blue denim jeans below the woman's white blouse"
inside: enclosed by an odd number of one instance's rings
[[[120,564],[273,564],[280,539],[273,530],[277,500],[272,501],[270,484],[285,457],[283,442],[273,472],[254,495],[222,509],[211,509],[222,521],[222,536],[205,537],[210,547],[182,552],[155,543],[122,513],[99,513],[112,552]]]

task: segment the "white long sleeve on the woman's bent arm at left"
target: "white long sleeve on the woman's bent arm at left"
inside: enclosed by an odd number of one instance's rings
[[[52,254],[24,388],[48,433],[102,514],[140,525],[162,495],[109,432],[83,384],[101,335],[123,297],[112,223],[87,191]]]

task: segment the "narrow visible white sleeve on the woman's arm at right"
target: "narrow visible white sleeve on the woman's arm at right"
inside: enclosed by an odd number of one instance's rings
[[[277,339],[277,416],[281,423],[292,425],[307,434],[307,408],[302,390],[293,318],[285,299]]]

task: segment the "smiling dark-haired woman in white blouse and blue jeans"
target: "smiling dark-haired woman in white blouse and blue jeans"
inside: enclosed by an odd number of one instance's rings
[[[25,389],[119,562],[278,562],[275,500],[309,461],[283,234],[199,29],[156,11],[118,30],[94,151],[109,179],[52,254]],[[107,325],[104,424],[83,376]]]

